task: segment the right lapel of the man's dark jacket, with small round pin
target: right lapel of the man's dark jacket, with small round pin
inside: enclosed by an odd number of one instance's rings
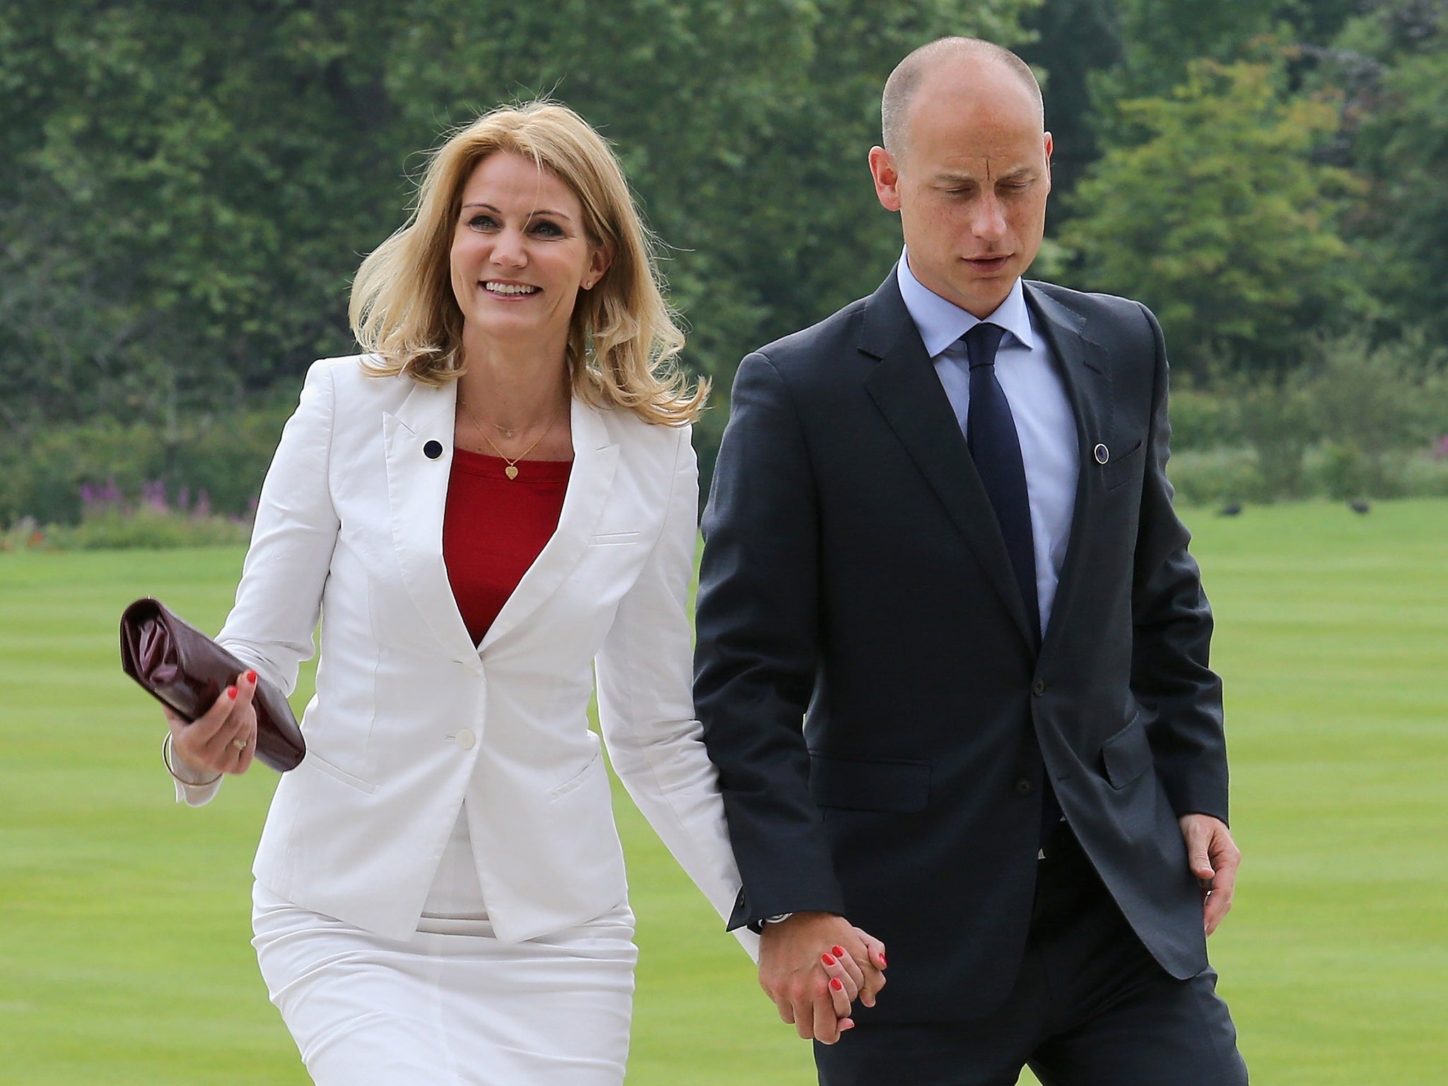
[[[1099,515],[1100,472],[1092,471],[1092,456],[1098,442],[1111,433],[1111,366],[1105,349],[1087,339],[1082,329],[1085,319],[1058,301],[1025,284],[1025,298],[1040,320],[1045,339],[1060,363],[1066,397],[1076,417],[1076,445],[1080,472],[1076,479],[1076,505],[1072,513],[1072,534],[1066,544],[1066,562],[1051,605],[1051,621],[1045,630],[1041,654],[1051,652],[1063,637],[1072,605],[1085,576],[1085,553],[1089,550],[1090,526]]]

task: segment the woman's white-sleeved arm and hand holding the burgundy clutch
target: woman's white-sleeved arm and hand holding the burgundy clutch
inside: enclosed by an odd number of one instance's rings
[[[321,589],[340,527],[329,487],[334,365],[316,362],[307,371],[301,401],[282,429],[262,484],[236,604],[216,637],[242,663],[288,695],[297,686],[301,662],[314,652]],[[237,685],[249,695],[248,676],[239,676]],[[249,714],[251,698],[240,698],[233,712]],[[203,727],[204,721],[210,724],[203,718],[190,725],[171,725],[177,799],[191,807],[210,802],[220,789],[222,778],[216,772],[222,776],[240,773],[251,765],[246,757],[224,769],[213,766],[214,752],[209,746],[216,746],[214,730]]]

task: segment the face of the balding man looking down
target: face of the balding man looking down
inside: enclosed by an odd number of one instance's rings
[[[1051,191],[1051,135],[1034,96],[993,64],[941,64],[911,100],[899,155],[870,152],[875,191],[901,213],[909,268],[976,317],[1035,259]]]

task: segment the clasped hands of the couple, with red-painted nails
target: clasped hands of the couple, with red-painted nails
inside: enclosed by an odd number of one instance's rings
[[[875,1006],[883,970],[885,944],[833,912],[796,912],[759,938],[759,986],[807,1041],[838,1041],[856,996]]]

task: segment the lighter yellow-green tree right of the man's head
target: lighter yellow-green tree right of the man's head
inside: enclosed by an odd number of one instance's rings
[[[1318,165],[1328,103],[1290,98],[1268,64],[1193,61],[1170,98],[1121,103],[1150,133],[1096,162],[1063,242],[1090,290],[1140,298],[1173,358],[1281,369],[1358,306],[1335,222],[1358,184]]]

